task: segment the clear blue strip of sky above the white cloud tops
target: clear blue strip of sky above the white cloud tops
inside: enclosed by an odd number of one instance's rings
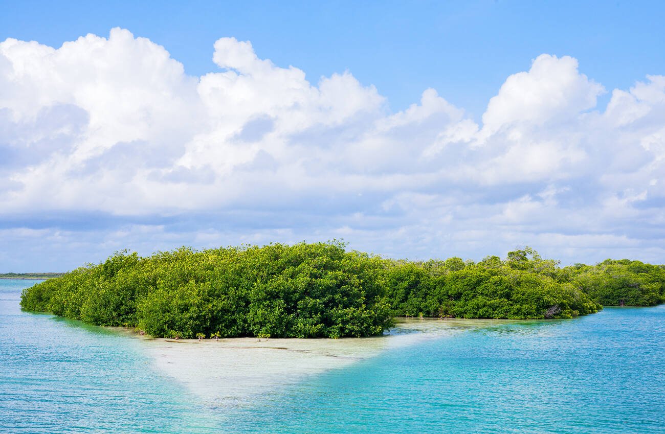
[[[215,68],[213,43],[235,37],[313,82],[350,70],[392,110],[431,87],[479,118],[505,78],[543,53],[577,58],[609,89],[665,69],[662,1],[2,3],[0,40],[59,47],[122,27],[201,75]]]

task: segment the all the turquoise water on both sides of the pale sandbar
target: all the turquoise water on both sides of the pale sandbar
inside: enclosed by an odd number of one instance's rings
[[[665,306],[466,323],[229,408],[140,340],[21,312],[23,286],[0,280],[3,433],[665,433]]]

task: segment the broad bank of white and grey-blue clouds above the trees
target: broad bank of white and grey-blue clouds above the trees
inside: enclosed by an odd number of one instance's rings
[[[478,124],[434,89],[392,113],[348,71],[313,84],[247,41],[219,39],[213,61],[188,76],[124,29],[58,49],[0,43],[3,261],[47,231],[45,264],[81,238],[103,257],[332,237],[394,257],[531,244],[665,262],[665,76],[599,108],[606,90],[575,58],[542,54]],[[81,261],[60,258],[51,269]]]

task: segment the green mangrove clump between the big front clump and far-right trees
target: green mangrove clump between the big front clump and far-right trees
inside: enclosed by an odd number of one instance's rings
[[[388,298],[398,316],[572,318],[600,309],[559,277],[555,261],[529,248],[509,253],[505,261],[397,262],[388,267]]]

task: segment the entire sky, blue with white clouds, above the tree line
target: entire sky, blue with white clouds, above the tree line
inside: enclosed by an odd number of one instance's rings
[[[329,239],[665,263],[662,2],[0,9],[0,272]]]

